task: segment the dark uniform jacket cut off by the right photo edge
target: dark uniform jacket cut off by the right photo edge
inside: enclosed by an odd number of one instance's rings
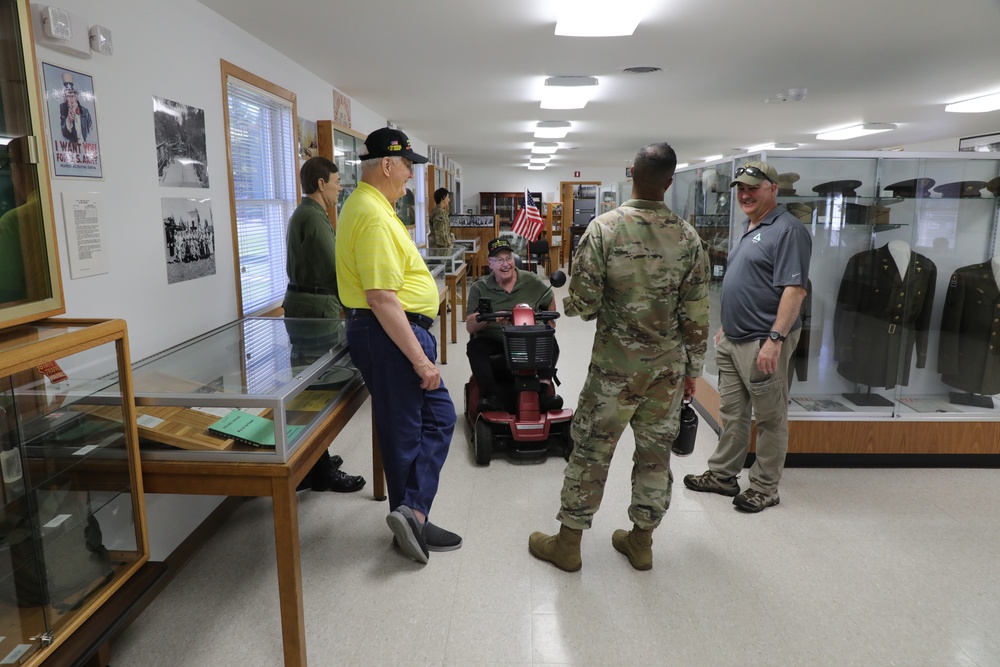
[[[941,315],[938,372],[950,387],[1000,393],[1000,289],[991,262],[951,274]]]

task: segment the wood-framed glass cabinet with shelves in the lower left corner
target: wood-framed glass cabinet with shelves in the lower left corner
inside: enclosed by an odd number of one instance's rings
[[[0,664],[37,665],[148,559],[122,320],[0,331]]]

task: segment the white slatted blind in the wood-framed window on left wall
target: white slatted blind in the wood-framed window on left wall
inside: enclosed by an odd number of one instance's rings
[[[233,206],[244,315],[281,302],[285,232],[296,201],[295,119],[290,102],[235,77],[226,84]]]

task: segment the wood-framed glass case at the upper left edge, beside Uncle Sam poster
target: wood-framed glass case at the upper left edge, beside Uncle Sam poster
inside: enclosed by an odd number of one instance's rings
[[[0,328],[65,312],[29,7],[0,0]]]

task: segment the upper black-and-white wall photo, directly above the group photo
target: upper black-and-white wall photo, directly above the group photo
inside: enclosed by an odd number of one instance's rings
[[[165,188],[207,188],[205,111],[153,97],[156,170]]]

